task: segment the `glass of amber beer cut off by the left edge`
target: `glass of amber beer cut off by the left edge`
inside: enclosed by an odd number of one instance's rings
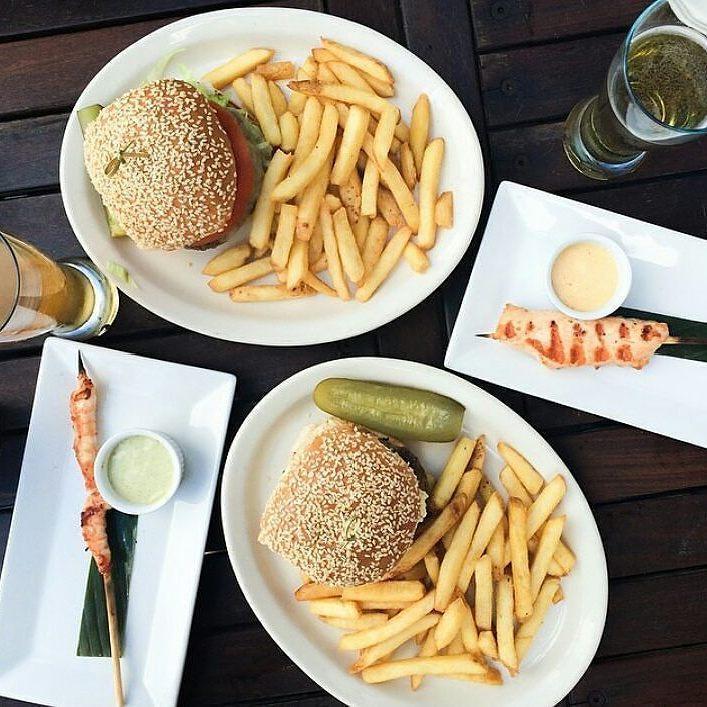
[[[42,334],[83,340],[118,312],[115,286],[86,258],[55,262],[0,231],[0,343]]]

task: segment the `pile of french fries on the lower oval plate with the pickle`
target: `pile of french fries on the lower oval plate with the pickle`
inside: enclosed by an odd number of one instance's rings
[[[563,599],[560,578],[575,564],[553,515],[566,485],[548,483],[500,442],[507,501],[483,473],[484,437],[458,440],[430,498],[430,519],[391,572],[358,587],[305,582],[295,592],[358,650],[350,672],[368,683],[425,675],[502,684],[500,661],[516,675],[548,609]],[[410,641],[417,657],[395,658]]]

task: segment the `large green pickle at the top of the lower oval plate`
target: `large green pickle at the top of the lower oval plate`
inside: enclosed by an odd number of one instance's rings
[[[461,432],[464,406],[444,395],[373,381],[327,378],[314,389],[324,412],[400,439],[451,442]]]

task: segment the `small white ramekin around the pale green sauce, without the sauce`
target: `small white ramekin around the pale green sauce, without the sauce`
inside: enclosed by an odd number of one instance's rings
[[[172,483],[164,497],[155,503],[132,503],[131,501],[126,500],[120,496],[117,491],[115,491],[110,479],[108,478],[108,460],[110,459],[111,452],[120,442],[128,437],[150,437],[158,441],[169,454],[173,470]],[[103,498],[116,510],[122,511],[123,513],[129,513],[131,515],[152,513],[152,511],[162,508],[162,506],[164,506],[172,498],[172,496],[174,496],[176,490],[179,488],[179,484],[182,481],[183,470],[184,457],[182,455],[182,450],[179,448],[177,443],[171,437],[168,437],[160,432],[153,432],[152,430],[143,429],[125,430],[125,432],[119,432],[118,434],[109,437],[98,450],[96,461],[93,465],[93,474],[96,480],[96,486],[98,487],[101,496],[103,496]]]

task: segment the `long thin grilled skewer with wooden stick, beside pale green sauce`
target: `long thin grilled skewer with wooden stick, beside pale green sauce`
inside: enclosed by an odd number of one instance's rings
[[[69,404],[71,425],[74,429],[74,454],[83,474],[86,486],[86,501],[81,511],[81,533],[86,547],[93,555],[98,571],[103,576],[103,589],[106,596],[108,613],[108,632],[110,634],[110,653],[113,660],[113,687],[115,702],[118,707],[125,704],[123,698],[123,680],[120,673],[120,634],[118,632],[118,614],[115,606],[115,590],[111,577],[111,553],[106,532],[106,513],[110,506],[96,487],[93,465],[98,453],[98,431],[96,426],[96,391],[93,381],[88,377],[79,353],[79,374],[76,388],[71,394]]]

